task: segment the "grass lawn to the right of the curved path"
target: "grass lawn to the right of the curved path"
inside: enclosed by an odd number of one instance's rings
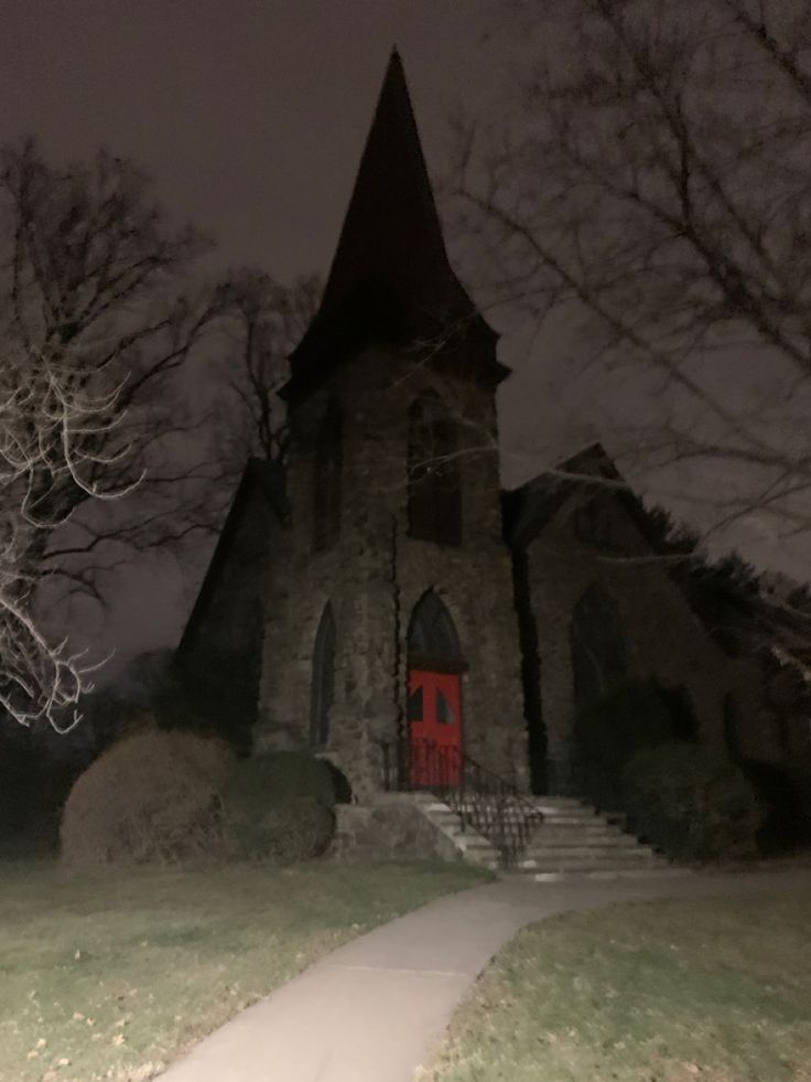
[[[432,1082],[811,1079],[811,898],[542,921],[456,1015]]]

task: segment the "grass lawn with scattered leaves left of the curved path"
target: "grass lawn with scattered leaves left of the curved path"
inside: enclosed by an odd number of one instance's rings
[[[458,865],[0,865],[0,1080],[149,1079],[318,956],[482,879]]]

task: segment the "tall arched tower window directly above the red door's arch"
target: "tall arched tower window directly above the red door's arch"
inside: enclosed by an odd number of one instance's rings
[[[462,544],[462,478],[456,424],[433,392],[409,410],[409,534]]]

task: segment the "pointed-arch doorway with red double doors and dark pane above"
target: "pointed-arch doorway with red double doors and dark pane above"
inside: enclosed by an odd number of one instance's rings
[[[464,668],[451,613],[429,590],[414,606],[408,635],[408,780],[412,785],[458,784]]]

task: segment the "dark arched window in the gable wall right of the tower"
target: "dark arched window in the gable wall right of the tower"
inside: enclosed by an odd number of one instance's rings
[[[581,709],[597,703],[625,679],[628,655],[616,601],[596,583],[572,613],[570,629],[574,703]]]

